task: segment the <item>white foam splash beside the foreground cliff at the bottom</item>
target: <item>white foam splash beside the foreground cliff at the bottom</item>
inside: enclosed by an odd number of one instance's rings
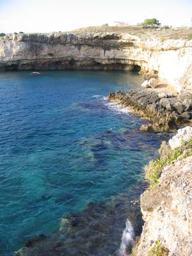
[[[133,243],[134,239],[134,230],[131,222],[127,219],[126,227],[122,234],[122,243],[120,244],[120,248],[118,250],[119,256],[126,256],[127,246],[130,246]]]

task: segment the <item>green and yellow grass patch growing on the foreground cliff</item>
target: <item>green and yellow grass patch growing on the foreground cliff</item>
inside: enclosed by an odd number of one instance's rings
[[[192,156],[192,138],[189,141],[183,141],[182,145],[174,150],[171,150],[169,145],[163,141],[161,148],[159,148],[159,154],[161,154],[161,157],[158,157],[156,160],[151,160],[149,164],[144,167],[145,179],[150,184],[148,189],[154,188],[154,186],[159,183],[159,178],[164,166],[172,163],[172,161],[179,156],[183,158]]]

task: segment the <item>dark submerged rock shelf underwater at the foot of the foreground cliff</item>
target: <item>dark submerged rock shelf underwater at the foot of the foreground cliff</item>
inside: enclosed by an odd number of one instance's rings
[[[115,256],[119,249],[131,252],[134,234],[140,235],[143,225],[138,204],[141,193],[142,185],[132,186],[127,195],[107,202],[90,202],[84,211],[63,216],[60,230],[32,237],[15,255]],[[125,235],[130,236],[129,241]]]

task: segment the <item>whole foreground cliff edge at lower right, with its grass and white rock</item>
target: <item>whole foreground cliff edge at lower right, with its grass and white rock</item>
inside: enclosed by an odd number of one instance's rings
[[[160,150],[161,154],[166,150],[169,158],[161,155],[146,168],[149,180],[155,177],[157,180],[141,195],[145,224],[140,243],[133,249],[132,256],[192,254],[192,128],[180,129],[170,140],[170,145],[173,148],[170,153],[166,143]]]

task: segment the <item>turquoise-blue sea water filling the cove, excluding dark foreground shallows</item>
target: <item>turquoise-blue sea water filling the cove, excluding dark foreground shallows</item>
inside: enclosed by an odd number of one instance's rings
[[[143,180],[166,135],[142,134],[145,121],[106,100],[141,81],[120,71],[0,73],[1,255]]]

